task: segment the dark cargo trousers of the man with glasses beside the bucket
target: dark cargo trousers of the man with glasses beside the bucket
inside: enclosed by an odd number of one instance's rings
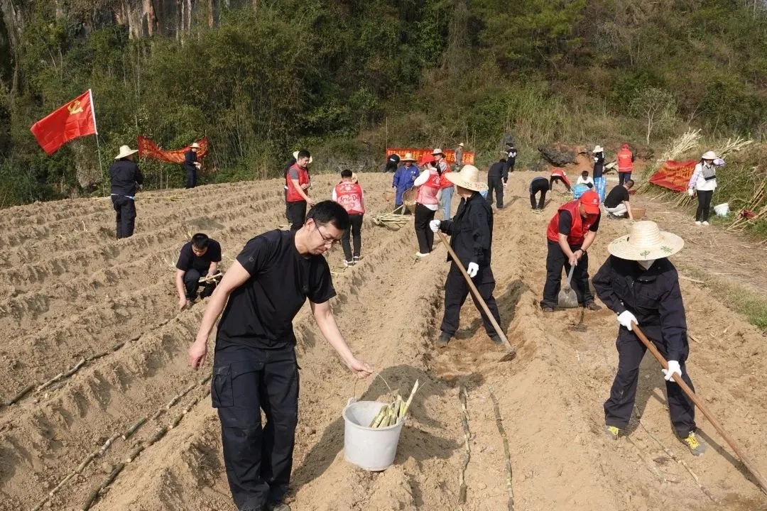
[[[295,350],[227,346],[213,361],[226,477],[237,509],[261,511],[288,491],[298,424]],[[262,427],[261,411],[266,415]]]

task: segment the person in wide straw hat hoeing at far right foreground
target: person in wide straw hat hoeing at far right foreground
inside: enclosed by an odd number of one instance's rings
[[[604,402],[604,431],[617,439],[627,427],[634,408],[639,365],[646,347],[634,332],[634,324],[668,361],[662,369],[666,379],[669,414],[676,435],[696,456],[704,444],[696,437],[695,408],[673,381],[673,374],[693,388],[685,361],[690,352],[687,324],[676,268],[668,260],[682,250],[684,241],[661,231],[653,221],[638,221],[631,231],[607,245],[611,256],[594,275],[597,296],[617,314],[618,370]]]

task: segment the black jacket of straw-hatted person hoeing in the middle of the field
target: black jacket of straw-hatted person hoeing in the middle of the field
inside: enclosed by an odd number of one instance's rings
[[[453,220],[443,220],[439,229],[450,236],[450,247],[466,268],[469,263],[490,265],[492,246],[492,208],[482,195],[461,199]],[[452,260],[448,254],[447,260]]]

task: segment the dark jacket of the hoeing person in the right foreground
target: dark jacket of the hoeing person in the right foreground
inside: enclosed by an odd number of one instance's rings
[[[617,314],[630,311],[647,337],[663,342],[669,360],[686,358],[684,303],[679,276],[670,260],[658,259],[643,271],[636,261],[611,255],[591,283],[607,307]]]

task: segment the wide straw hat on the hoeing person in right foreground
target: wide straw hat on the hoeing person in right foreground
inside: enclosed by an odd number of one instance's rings
[[[607,251],[621,259],[647,260],[669,257],[682,247],[684,240],[681,237],[661,231],[655,222],[644,220],[635,222],[630,234],[611,241]]]

